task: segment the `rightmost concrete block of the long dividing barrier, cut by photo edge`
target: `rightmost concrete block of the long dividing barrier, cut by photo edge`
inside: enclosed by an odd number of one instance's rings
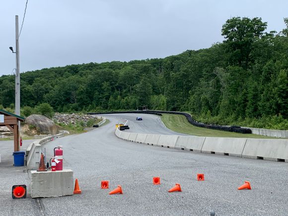
[[[288,140],[247,139],[242,157],[288,162]]]

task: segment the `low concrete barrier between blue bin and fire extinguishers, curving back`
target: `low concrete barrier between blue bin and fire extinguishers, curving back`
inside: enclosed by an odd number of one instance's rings
[[[27,169],[38,169],[41,157],[41,145],[48,143],[52,139],[61,137],[64,137],[64,134],[51,135],[30,144],[26,149]]]

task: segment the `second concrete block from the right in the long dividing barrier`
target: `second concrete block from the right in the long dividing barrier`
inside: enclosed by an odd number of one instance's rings
[[[201,152],[241,157],[246,138],[207,137]]]

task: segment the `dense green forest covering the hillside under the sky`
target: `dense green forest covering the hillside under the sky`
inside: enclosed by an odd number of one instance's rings
[[[287,130],[288,18],[284,22],[282,31],[267,32],[261,18],[233,17],[219,32],[224,41],[208,49],[21,73],[21,107],[48,103],[57,112],[93,112],[147,105],[188,111],[203,122]],[[0,77],[4,108],[14,106],[14,77]]]

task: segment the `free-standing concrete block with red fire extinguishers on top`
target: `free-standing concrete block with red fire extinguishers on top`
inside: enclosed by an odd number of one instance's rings
[[[31,197],[61,197],[73,195],[73,171],[31,171]]]

